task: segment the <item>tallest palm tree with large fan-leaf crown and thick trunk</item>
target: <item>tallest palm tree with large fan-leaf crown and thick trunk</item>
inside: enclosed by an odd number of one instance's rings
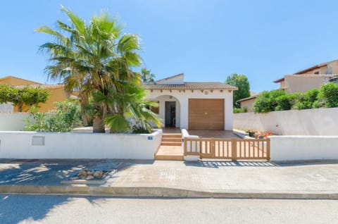
[[[36,31],[54,38],[54,42],[40,46],[49,54],[51,61],[46,66],[46,73],[49,78],[63,82],[68,91],[79,89],[84,119],[85,105],[89,103],[93,92],[106,94],[111,91],[109,87],[116,87],[111,85],[112,82],[117,83],[121,77],[128,80],[135,76],[130,68],[142,63],[137,54],[141,49],[139,37],[122,35],[122,27],[107,13],[94,16],[89,23],[85,23],[66,8],[62,7],[61,10],[70,19],[70,24],[58,20],[56,30],[42,26]],[[104,132],[107,105],[97,101],[94,104],[98,112],[94,113],[93,131]]]

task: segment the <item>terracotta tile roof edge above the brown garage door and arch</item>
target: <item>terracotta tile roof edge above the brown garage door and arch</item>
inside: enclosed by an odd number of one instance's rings
[[[154,83],[144,83],[146,89],[231,89],[237,87],[227,85],[222,82],[184,82],[182,85],[158,85]]]

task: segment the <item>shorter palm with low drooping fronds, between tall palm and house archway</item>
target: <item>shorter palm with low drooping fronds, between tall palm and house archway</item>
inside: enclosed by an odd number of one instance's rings
[[[146,101],[146,90],[141,87],[139,77],[111,82],[115,87],[106,94],[94,92],[94,101],[108,106],[106,124],[111,132],[125,132],[136,129],[151,132],[152,125],[161,126],[161,119],[149,107],[157,103]],[[114,91],[118,89],[118,91]]]

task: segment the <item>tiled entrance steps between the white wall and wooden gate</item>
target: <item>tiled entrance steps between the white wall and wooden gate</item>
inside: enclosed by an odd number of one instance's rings
[[[184,160],[182,135],[164,133],[162,135],[161,146],[158,149],[156,160]]]

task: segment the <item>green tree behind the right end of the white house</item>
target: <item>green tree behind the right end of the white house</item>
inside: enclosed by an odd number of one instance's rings
[[[250,84],[246,75],[239,75],[237,73],[233,73],[227,77],[225,83],[229,85],[233,85],[238,88],[237,91],[234,91],[234,107],[239,108],[239,104],[237,101],[239,99],[244,99],[246,97],[250,97]]]

